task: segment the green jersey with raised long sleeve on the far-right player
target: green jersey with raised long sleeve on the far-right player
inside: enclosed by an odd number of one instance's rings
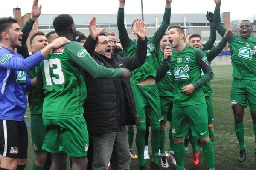
[[[221,36],[227,28],[221,24],[220,8],[214,10],[214,24]],[[243,38],[233,34],[229,39],[233,77],[238,79],[256,80],[256,38]]]

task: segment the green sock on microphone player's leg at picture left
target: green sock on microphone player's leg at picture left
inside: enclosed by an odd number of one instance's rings
[[[177,169],[184,170],[185,145],[184,142],[173,144],[174,155],[176,159]]]

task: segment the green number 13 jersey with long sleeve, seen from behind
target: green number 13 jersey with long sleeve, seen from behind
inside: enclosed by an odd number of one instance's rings
[[[44,82],[43,119],[83,116],[87,96],[83,69],[96,78],[122,76],[122,70],[98,65],[90,54],[72,41],[52,51],[40,64]],[[38,79],[40,79],[38,71]]]

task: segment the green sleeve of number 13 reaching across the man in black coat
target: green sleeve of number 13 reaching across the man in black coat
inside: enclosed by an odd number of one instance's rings
[[[119,68],[106,68],[98,65],[79,42],[72,41],[65,44],[63,47],[67,50],[70,59],[90,73],[94,78],[113,78],[122,76],[122,70]]]

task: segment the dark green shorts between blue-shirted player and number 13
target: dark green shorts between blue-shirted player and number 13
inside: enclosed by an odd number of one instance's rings
[[[31,114],[31,138],[34,153],[47,154],[45,150],[42,150],[45,137],[45,127],[42,118],[42,114]]]

